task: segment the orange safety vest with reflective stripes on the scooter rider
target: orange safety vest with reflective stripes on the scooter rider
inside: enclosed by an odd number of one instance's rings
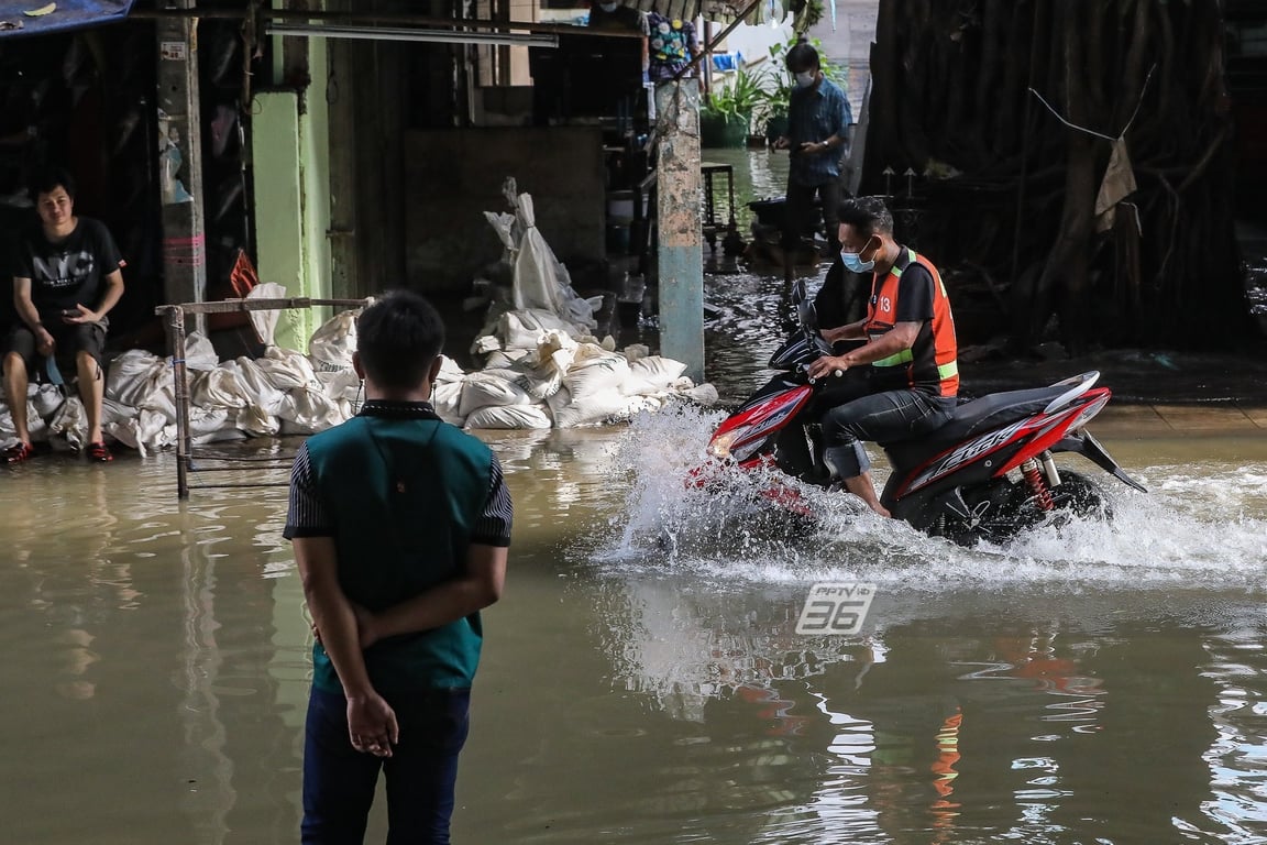
[[[873,361],[875,367],[895,367],[906,365],[906,380],[912,388],[936,386],[936,395],[954,397],[959,393],[958,343],[954,337],[954,315],[950,313],[950,299],[941,283],[941,274],[933,262],[915,250],[906,247],[905,255],[893,264],[893,269],[881,279],[872,281],[872,298],[867,305],[867,323],[863,331],[875,340],[888,333],[897,324],[897,291],[902,271],[917,261],[933,275],[933,319],[920,327],[915,343],[908,350],[887,359]]]

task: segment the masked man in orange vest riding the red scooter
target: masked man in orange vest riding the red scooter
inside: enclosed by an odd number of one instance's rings
[[[864,341],[810,365],[811,379],[835,378],[820,394],[824,462],[845,489],[888,517],[870,479],[862,441],[920,437],[949,422],[959,391],[954,317],[931,261],[893,239],[893,215],[878,196],[841,203],[840,258],[873,272],[867,317],[822,329],[824,340]]]

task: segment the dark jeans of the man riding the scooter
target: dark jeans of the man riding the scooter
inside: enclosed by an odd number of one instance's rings
[[[825,461],[841,479],[870,469],[862,441],[922,437],[950,422],[957,400],[916,390],[887,390],[837,405],[822,416]]]

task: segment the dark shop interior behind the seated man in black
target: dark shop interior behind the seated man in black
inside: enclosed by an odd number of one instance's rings
[[[227,280],[237,251],[250,251],[243,166],[241,22],[199,24],[203,125],[201,201],[208,293]],[[110,314],[111,345],[162,348],[153,309],[163,302],[152,22],[0,38],[0,236],[5,257],[37,222],[27,186],[47,165],[76,180],[75,212],[100,219],[128,262],[125,293]],[[177,144],[179,147],[180,144]],[[185,185],[188,163],[177,177]],[[11,274],[3,274],[0,321],[13,318]]]

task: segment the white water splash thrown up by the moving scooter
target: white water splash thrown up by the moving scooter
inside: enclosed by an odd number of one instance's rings
[[[706,459],[703,447],[721,418],[683,407],[630,426],[614,455],[630,494],[599,561],[622,571],[672,570],[727,583],[868,580],[934,593],[1053,585],[1258,592],[1267,583],[1263,465],[1133,470],[1149,494],[1078,466],[1106,492],[1114,519],[1071,519],[1005,546],[962,549],[817,488],[798,486],[815,513],[812,524],[758,504],[755,493],[769,479],[736,473],[721,490],[689,488],[685,479]]]

